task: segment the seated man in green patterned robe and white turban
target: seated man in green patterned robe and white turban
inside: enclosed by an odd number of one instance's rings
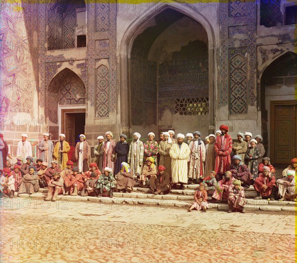
[[[114,185],[114,177],[112,174],[112,169],[109,167],[104,168],[104,173],[99,177],[97,189],[99,189],[98,197],[101,196],[109,196],[110,198],[113,197],[113,188]]]

